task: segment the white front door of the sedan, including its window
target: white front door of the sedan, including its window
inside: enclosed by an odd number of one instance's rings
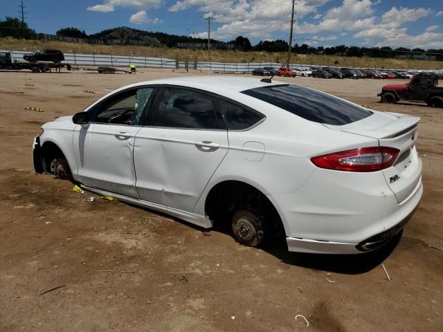
[[[84,185],[138,198],[134,140],[153,91],[141,87],[111,95],[93,107],[89,124],[75,128],[75,158]]]

